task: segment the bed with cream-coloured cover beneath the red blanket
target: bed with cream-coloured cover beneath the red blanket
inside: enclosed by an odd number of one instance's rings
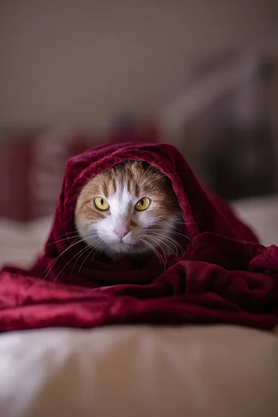
[[[278,197],[233,204],[265,245]],[[0,220],[0,265],[28,267],[51,218]],[[237,326],[44,329],[0,336],[0,415],[278,416],[278,338]]]

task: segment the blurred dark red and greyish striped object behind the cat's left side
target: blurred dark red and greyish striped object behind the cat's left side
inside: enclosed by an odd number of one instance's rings
[[[0,142],[0,217],[28,222],[52,215],[67,160],[108,142],[159,142],[159,131],[155,124],[141,123],[117,126],[106,136],[6,134]]]

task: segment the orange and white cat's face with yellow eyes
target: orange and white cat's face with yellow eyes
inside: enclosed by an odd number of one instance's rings
[[[117,164],[88,181],[75,210],[81,238],[111,259],[171,249],[178,218],[170,179],[140,161]]]

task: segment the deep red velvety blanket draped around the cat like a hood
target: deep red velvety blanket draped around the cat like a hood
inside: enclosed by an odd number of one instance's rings
[[[159,273],[145,263],[83,258],[74,205],[88,179],[115,163],[152,163],[172,181],[183,213],[183,255]],[[181,236],[182,237],[182,236]],[[74,256],[81,253],[81,256]],[[278,247],[265,248],[229,207],[205,190],[170,145],[100,146],[67,163],[51,234],[32,270],[0,272],[0,330],[117,323],[278,323]]]

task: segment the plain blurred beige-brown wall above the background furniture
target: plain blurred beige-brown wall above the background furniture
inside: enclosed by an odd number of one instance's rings
[[[1,0],[0,125],[101,126],[155,111],[195,60],[273,26],[277,3]]]

